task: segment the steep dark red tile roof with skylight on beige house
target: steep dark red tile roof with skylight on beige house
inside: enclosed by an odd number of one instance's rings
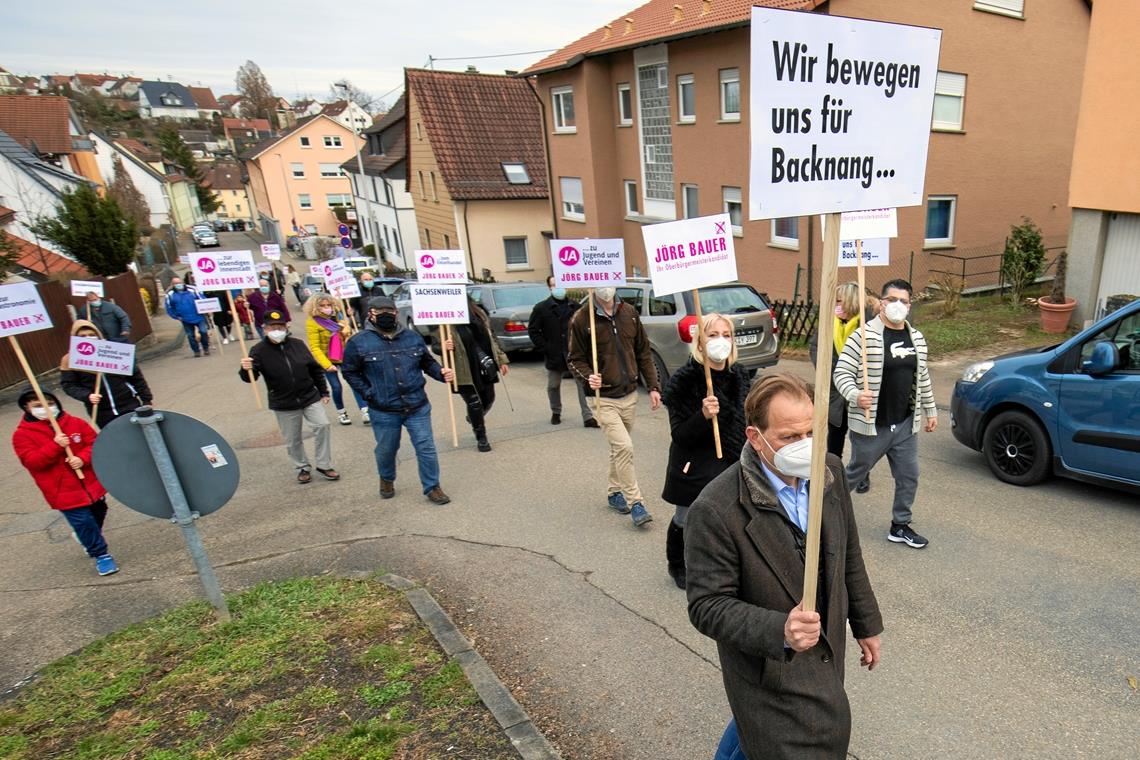
[[[548,197],[543,117],[526,80],[418,68],[404,77],[453,198]],[[507,182],[504,162],[526,164],[530,185]]]

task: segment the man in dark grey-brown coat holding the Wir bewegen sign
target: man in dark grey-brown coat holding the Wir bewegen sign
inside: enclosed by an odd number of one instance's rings
[[[824,472],[815,608],[800,600],[812,450],[812,387],[790,375],[744,402],[740,461],[693,502],[685,531],[689,619],[716,639],[733,722],[717,760],[846,757],[846,628],[860,664],[879,663],[882,616],[860,550],[842,464]],[[815,487],[815,484],[812,484]],[[739,733],[739,747],[735,737]]]

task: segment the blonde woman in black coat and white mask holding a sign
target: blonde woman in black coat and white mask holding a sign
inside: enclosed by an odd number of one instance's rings
[[[665,557],[677,588],[685,588],[685,514],[709,481],[740,458],[744,446],[744,398],[751,381],[736,363],[732,321],[722,314],[701,319],[701,336],[692,356],[673,374],[661,394],[669,409],[669,464],[661,498],[676,507],[666,533]],[[712,375],[712,394],[705,383],[705,362]],[[716,458],[712,417],[720,428]]]

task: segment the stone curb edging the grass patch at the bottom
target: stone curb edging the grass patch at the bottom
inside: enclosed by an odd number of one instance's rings
[[[384,586],[404,594],[408,604],[431,630],[432,636],[450,657],[459,663],[479,698],[495,716],[495,720],[511,739],[511,744],[524,760],[562,760],[562,755],[551,745],[543,733],[530,720],[510,689],[503,685],[491,667],[471,646],[467,637],[459,632],[439,603],[417,583],[391,573],[376,578],[369,572],[348,573],[356,580],[378,580]]]

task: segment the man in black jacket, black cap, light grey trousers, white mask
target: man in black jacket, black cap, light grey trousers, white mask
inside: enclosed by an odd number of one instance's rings
[[[250,356],[242,359],[238,377],[249,383],[252,370],[252,382],[266,378],[269,408],[277,416],[285,450],[296,468],[296,482],[312,481],[312,467],[302,442],[302,423],[308,423],[314,431],[316,471],[325,480],[340,480],[340,473],[333,469],[333,448],[325,414],[329,399],[325,370],[303,341],[290,337],[288,314],[271,309],[266,312],[263,326],[266,335],[250,349]]]

